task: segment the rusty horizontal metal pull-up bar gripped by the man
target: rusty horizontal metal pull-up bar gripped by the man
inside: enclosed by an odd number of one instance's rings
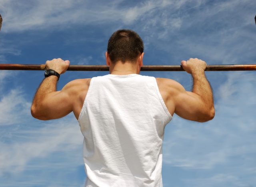
[[[46,70],[45,64],[0,64],[0,70]],[[150,65],[141,71],[185,71],[182,66]],[[205,71],[253,71],[256,64],[207,65]],[[109,71],[104,65],[70,65],[67,71]]]

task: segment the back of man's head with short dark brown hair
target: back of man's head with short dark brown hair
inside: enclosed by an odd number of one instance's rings
[[[122,29],[109,38],[107,50],[112,64],[118,61],[136,63],[138,55],[144,51],[144,44],[136,32]]]

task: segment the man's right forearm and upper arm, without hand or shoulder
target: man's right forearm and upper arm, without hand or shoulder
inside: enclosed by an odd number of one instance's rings
[[[175,113],[184,119],[205,122],[215,115],[212,89],[204,71],[192,74],[192,92],[186,91],[179,83],[175,84]]]

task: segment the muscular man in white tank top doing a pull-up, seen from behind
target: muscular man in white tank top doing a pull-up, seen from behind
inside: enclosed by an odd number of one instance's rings
[[[73,111],[84,135],[86,186],[162,186],[164,127],[173,114],[198,122],[214,117],[206,62],[181,61],[194,80],[188,92],[174,80],[139,75],[143,51],[136,32],[118,30],[108,41],[110,74],[73,80],[61,91],[56,83],[70,62],[46,61],[52,70],[36,92],[31,113],[49,120]]]

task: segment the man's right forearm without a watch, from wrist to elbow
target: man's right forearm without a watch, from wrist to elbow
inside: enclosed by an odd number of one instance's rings
[[[210,83],[206,79],[204,71],[192,73],[193,89],[192,92],[198,94],[209,109],[214,108],[214,101]]]

